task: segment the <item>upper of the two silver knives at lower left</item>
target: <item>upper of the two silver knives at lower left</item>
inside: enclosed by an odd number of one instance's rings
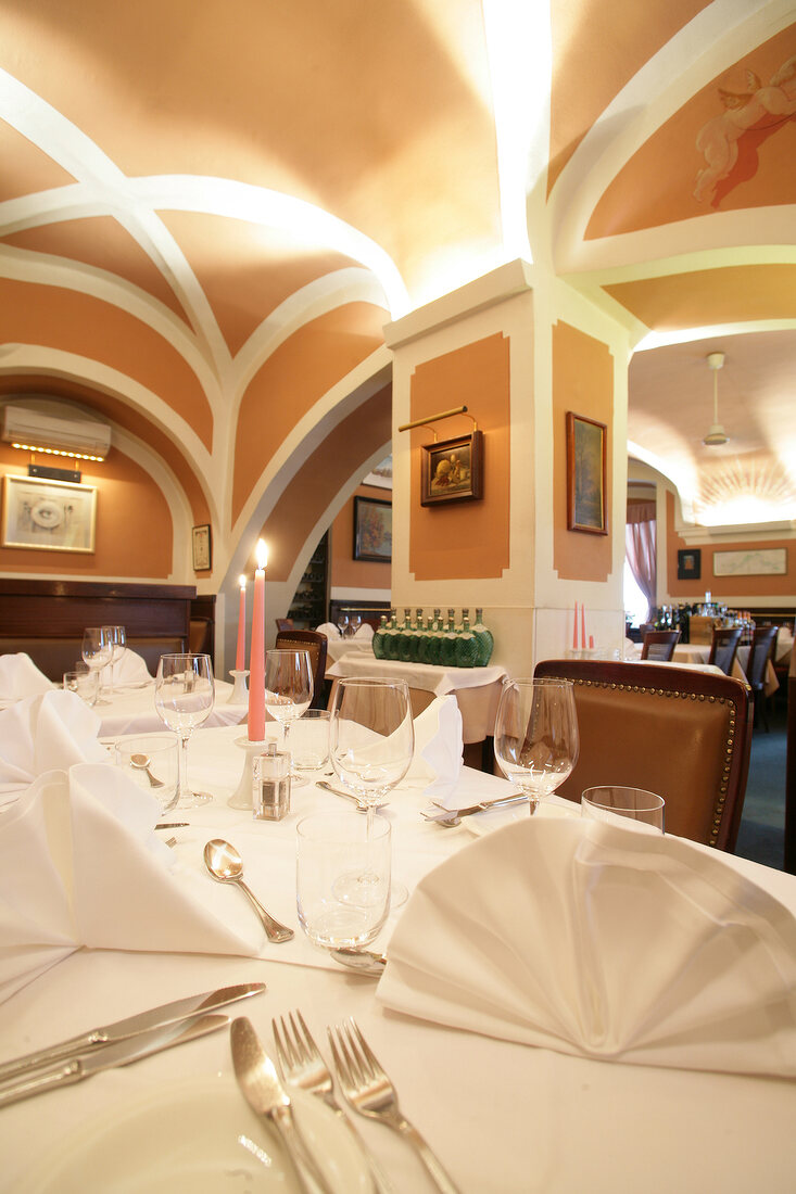
[[[165,1028],[167,1024],[182,1023],[208,1011],[215,1011],[216,1008],[224,1008],[228,1003],[245,999],[250,995],[261,995],[264,990],[264,983],[243,983],[239,986],[221,986],[218,991],[206,991],[202,995],[191,995],[185,999],[163,1003],[159,1008],[139,1013],[137,1016],[117,1020],[115,1024],[106,1024],[104,1028],[92,1028],[90,1032],[80,1036],[72,1036],[59,1045],[37,1050],[35,1053],[26,1053],[24,1057],[14,1058],[13,1061],[5,1061],[0,1065],[0,1082],[27,1073],[43,1065],[53,1065],[55,1061],[62,1061],[65,1058],[75,1057],[79,1053],[105,1048],[116,1041],[146,1033],[151,1028]]]

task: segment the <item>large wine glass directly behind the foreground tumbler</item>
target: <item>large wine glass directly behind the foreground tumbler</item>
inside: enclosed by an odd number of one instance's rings
[[[367,804],[367,833],[373,832],[375,806],[411,767],[415,724],[404,679],[341,679],[335,689],[329,727],[329,757],[337,777]],[[367,872],[342,876],[338,887],[353,903],[367,904],[375,891]],[[406,898],[393,882],[393,906]]]

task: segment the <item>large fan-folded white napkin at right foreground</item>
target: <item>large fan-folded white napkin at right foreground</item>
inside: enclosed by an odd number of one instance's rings
[[[415,890],[388,1008],[563,1053],[796,1076],[796,919],[717,854],[528,818]]]

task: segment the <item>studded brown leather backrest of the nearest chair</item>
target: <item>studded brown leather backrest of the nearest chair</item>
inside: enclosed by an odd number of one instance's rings
[[[731,676],[654,664],[545,659],[571,679],[580,755],[558,795],[602,783],[656,792],[666,830],[734,850],[749,769],[749,688]]]

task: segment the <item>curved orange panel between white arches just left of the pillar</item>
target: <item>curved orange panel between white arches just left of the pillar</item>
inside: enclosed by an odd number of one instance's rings
[[[384,343],[386,320],[387,313],[380,307],[348,303],[301,327],[263,364],[238,416],[233,523],[299,419]]]

